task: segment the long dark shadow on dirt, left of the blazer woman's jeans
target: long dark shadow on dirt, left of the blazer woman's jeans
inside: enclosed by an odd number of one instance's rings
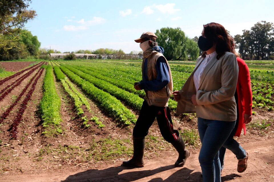
[[[152,170],[140,170],[140,168],[128,168],[124,166],[118,167],[109,167],[107,169],[90,169],[84,172],[76,173],[74,175],[70,175],[62,182],[130,182],[142,179],[142,181],[149,182],[159,182],[159,181],[196,181],[202,182],[202,177],[200,172],[192,173],[194,170],[188,169],[186,167],[178,168],[177,171],[172,173],[170,176],[165,174],[159,174],[164,171],[168,171],[170,169],[174,169],[174,165],[163,166]],[[176,168],[177,169],[177,168]],[[135,171],[136,170],[136,171]],[[128,172],[127,172],[128,171]],[[174,170],[173,170],[174,171]],[[120,174],[119,174],[120,173]],[[170,174],[170,171],[168,175]],[[156,176],[153,176],[156,175]],[[164,179],[162,179],[162,177]],[[144,178],[144,179],[143,179]]]

